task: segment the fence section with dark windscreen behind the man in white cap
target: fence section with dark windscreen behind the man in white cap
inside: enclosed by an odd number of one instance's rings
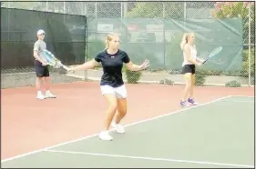
[[[31,3],[21,4],[21,7],[29,6],[28,4]],[[44,5],[46,5],[46,3],[37,4],[40,6],[37,5],[36,9],[44,9]],[[49,4],[52,6],[51,3]],[[35,85],[33,47],[37,40],[36,32],[39,29],[46,32],[44,39],[46,49],[56,55],[64,65],[83,64],[86,59],[87,46],[86,24],[85,15],[59,14],[1,6],[2,88]],[[65,69],[49,68],[53,83],[80,80],[80,78],[67,76]]]

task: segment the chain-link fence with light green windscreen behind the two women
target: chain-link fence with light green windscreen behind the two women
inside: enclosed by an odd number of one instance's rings
[[[29,4],[29,5],[28,5]],[[87,58],[104,49],[105,38],[116,32],[131,60],[150,68],[129,72],[128,83],[184,84],[181,75],[184,32],[194,32],[199,57],[223,46],[221,55],[197,67],[197,85],[248,86],[255,81],[254,2],[29,2],[5,7],[87,15]],[[17,6],[15,6],[17,5]],[[2,5],[3,6],[3,5]],[[83,26],[75,26],[83,29]],[[77,77],[100,80],[101,67],[77,72]]]

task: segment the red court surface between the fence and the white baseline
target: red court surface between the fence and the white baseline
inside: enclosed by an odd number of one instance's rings
[[[179,110],[183,86],[126,84],[128,114],[123,124]],[[54,84],[56,99],[36,100],[36,88],[2,89],[2,160],[67,142],[102,128],[108,104],[98,82]],[[253,87],[196,87],[200,103],[226,95],[254,96]]]

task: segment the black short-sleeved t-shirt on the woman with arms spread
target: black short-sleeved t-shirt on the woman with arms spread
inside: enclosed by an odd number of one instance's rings
[[[114,55],[108,54],[107,50],[99,53],[95,60],[101,62],[103,75],[100,85],[108,84],[112,87],[118,87],[124,84],[122,78],[123,63],[128,64],[130,59],[125,51],[118,50]]]

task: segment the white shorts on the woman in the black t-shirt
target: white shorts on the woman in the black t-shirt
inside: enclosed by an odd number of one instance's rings
[[[117,98],[127,98],[128,92],[125,84],[119,87],[112,87],[110,85],[100,85],[101,93],[104,94],[116,94]]]

